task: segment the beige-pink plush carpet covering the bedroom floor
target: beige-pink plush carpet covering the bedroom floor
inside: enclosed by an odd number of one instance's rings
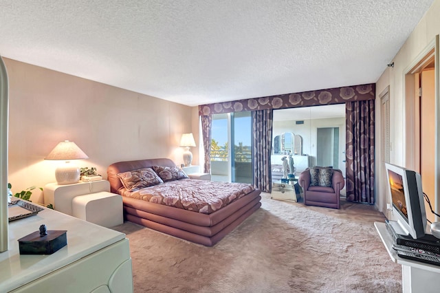
[[[340,210],[281,202],[262,207],[208,248],[126,222],[135,292],[401,292],[373,226],[373,206]]]

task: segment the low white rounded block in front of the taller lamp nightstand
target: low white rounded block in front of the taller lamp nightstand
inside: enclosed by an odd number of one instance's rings
[[[122,196],[102,191],[78,195],[72,199],[72,215],[104,227],[124,223]]]

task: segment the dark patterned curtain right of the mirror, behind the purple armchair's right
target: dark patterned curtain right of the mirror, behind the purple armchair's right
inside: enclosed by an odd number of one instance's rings
[[[375,203],[374,100],[346,103],[347,200]]]

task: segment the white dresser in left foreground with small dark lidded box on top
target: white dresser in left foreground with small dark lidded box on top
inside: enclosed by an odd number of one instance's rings
[[[67,246],[49,255],[21,255],[17,239],[67,230]],[[0,253],[0,292],[133,292],[125,235],[45,208],[9,224],[9,250]]]

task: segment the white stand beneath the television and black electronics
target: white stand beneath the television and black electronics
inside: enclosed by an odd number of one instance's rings
[[[374,226],[391,260],[401,265],[402,292],[439,292],[440,266],[398,257],[392,248],[393,239],[386,230],[385,223],[375,222]]]

